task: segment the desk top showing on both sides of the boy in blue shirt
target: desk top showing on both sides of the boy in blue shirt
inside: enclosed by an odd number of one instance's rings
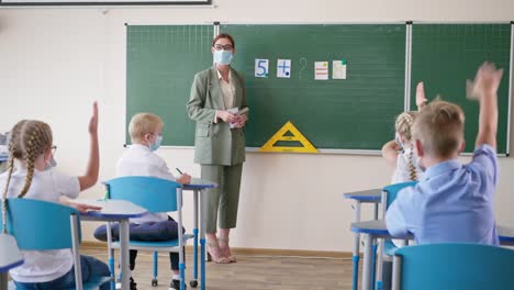
[[[514,228],[496,225],[498,236],[501,245],[514,245]],[[383,220],[351,223],[351,232],[360,234],[372,234],[377,237],[391,237]],[[412,238],[411,235],[409,238]]]

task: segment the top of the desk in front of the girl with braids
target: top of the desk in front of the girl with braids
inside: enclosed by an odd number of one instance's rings
[[[85,203],[89,205],[101,207],[100,211],[89,211],[80,214],[82,217],[97,219],[131,219],[141,217],[148,211],[126,200],[96,200],[96,199],[76,199],[72,202]]]

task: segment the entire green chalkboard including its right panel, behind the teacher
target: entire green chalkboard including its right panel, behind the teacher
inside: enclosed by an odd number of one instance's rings
[[[234,36],[233,67],[246,76],[247,147],[262,146],[288,121],[327,152],[379,149],[392,138],[394,116],[404,108],[405,24],[221,25],[220,31]],[[136,112],[153,112],[165,121],[165,145],[194,145],[186,103],[194,74],[212,65],[213,32],[213,25],[126,27],[126,123]],[[509,153],[510,49],[510,24],[413,24],[412,109],[420,80],[428,98],[440,94],[460,104],[466,150],[472,152],[478,104],[466,100],[465,83],[482,62],[494,62],[505,69],[499,153]],[[269,60],[267,78],[255,77],[256,59]],[[291,60],[290,78],[277,77],[278,59]],[[346,79],[332,78],[333,60],[346,62]],[[314,79],[315,62],[328,62],[327,80]]]

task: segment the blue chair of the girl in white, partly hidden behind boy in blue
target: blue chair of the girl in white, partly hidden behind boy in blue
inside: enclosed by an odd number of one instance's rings
[[[382,199],[381,199],[381,213],[382,213],[382,220],[386,220],[386,212],[389,209],[389,205],[396,199],[398,193],[400,190],[407,188],[407,187],[414,187],[417,183],[417,181],[409,181],[409,182],[401,182],[401,183],[394,183],[387,186],[382,189]],[[392,256],[392,253],[396,250],[396,246],[392,243],[391,239],[382,239],[379,246],[379,257],[378,257],[378,271],[377,271],[377,290],[382,289],[382,260],[383,260],[383,254]]]

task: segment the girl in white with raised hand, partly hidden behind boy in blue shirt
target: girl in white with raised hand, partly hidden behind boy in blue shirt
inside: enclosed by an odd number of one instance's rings
[[[416,87],[416,105],[421,111],[426,104],[423,82]],[[417,112],[410,111],[401,113],[394,123],[395,138],[386,143],[382,147],[382,157],[393,169],[391,183],[417,181],[423,171],[416,164],[414,146],[412,143],[411,129]]]

